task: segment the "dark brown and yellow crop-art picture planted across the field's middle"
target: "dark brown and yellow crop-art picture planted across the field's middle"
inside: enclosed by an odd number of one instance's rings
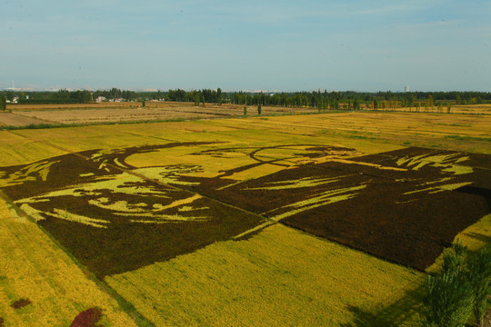
[[[0,168],[0,188],[98,276],[286,225],[423,270],[490,212],[489,156],[318,144],[145,145]],[[246,235],[246,236],[245,236]]]

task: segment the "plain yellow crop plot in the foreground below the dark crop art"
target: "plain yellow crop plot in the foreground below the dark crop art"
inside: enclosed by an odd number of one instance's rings
[[[105,280],[159,326],[413,326],[425,276],[276,224]]]

